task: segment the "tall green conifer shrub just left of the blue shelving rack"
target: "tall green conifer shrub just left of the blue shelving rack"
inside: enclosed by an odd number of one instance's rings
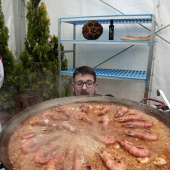
[[[50,35],[50,19],[44,3],[31,0],[27,3],[28,31],[25,48],[20,53],[16,69],[17,90],[36,90],[42,100],[58,97],[58,38]],[[62,69],[67,69],[67,59],[62,55]],[[21,74],[22,71],[22,74]],[[69,83],[69,80],[68,80]],[[66,83],[67,85],[67,83]],[[69,92],[63,89],[65,95]]]

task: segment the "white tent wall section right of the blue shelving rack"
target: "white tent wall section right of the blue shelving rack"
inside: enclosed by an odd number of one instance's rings
[[[157,98],[156,90],[161,89],[170,101],[170,1],[158,1],[157,7],[155,12],[158,26],[151,97]]]

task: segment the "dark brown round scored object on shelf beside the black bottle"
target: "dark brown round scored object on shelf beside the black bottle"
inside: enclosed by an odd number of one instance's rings
[[[89,20],[82,28],[82,34],[87,40],[96,40],[103,33],[103,27],[95,20]]]

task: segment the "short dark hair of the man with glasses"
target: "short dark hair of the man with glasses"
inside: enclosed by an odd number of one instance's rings
[[[96,82],[96,72],[89,66],[81,66],[75,69],[73,73],[73,80],[75,79],[77,74],[91,74],[94,78],[94,82]]]

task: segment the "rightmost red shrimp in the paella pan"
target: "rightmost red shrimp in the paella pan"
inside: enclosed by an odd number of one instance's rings
[[[133,137],[137,137],[139,139],[143,139],[143,140],[157,140],[158,139],[158,135],[154,134],[151,131],[148,130],[142,130],[142,129],[131,129],[131,130],[127,130],[125,131],[125,133],[129,136],[133,136]]]

